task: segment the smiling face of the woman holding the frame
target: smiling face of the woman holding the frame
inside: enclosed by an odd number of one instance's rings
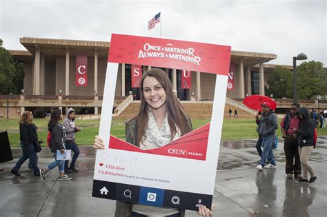
[[[164,87],[152,76],[147,76],[143,80],[143,96],[146,103],[154,110],[163,107],[167,99]]]

